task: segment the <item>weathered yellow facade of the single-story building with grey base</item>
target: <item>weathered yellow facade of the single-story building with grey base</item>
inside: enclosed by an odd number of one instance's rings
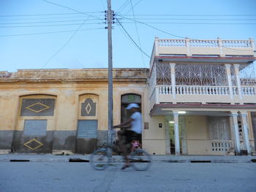
[[[122,94],[137,93],[142,103],[145,100],[147,69],[114,69],[113,77],[113,117],[117,124],[121,119]],[[20,70],[11,77],[0,79],[0,150],[91,153],[106,141],[107,80],[107,69]],[[53,114],[40,115],[46,111],[42,104],[37,105],[37,109],[32,104],[33,109],[21,115],[21,111],[28,110],[28,104],[21,109],[23,99],[55,99]],[[86,99],[96,104],[94,115],[84,115]],[[33,112],[34,115],[27,115]],[[26,120],[47,120],[45,135],[24,135]],[[78,138],[78,120],[97,120],[98,139]]]

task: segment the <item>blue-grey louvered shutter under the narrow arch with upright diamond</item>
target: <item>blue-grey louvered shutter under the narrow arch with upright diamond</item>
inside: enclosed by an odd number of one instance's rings
[[[78,120],[78,138],[97,138],[98,120]]]

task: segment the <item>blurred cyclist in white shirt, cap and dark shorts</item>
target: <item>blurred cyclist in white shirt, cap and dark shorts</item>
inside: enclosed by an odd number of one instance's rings
[[[142,116],[139,112],[140,107],[138,106],[138,104],[129,104],[126,109],[130,110],[132,112],[132,115],[124,123],[114,126],[114,128],[124,128],[124,130],[118,131],[118,138],[125,159],[125,164],[122,169],[126,169],[127,167],[129,167],[129,154],[126,145],[128,143],[131,143],[132,140],[138,140],[141,142],[142,132]]]

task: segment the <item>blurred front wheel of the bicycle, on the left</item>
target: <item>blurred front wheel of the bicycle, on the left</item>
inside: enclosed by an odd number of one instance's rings
[[[95,170],[103,170],[109,164],[108,150],[107,149],[98,149],[91,154],[90,164]]]

